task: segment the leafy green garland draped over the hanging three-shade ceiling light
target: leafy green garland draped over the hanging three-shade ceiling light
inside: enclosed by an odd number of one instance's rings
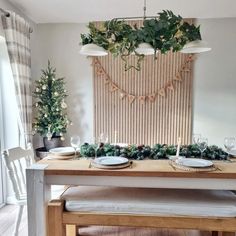
[[[99,28],[89,23],[89,34],[81,34],[82,45],[94,43],[115,56],[120,55],[126,63],[126,56],[132,53],[138,56],[137,70],[140,70],[140,61],[143,54],[135,50],[140,43],[150,44],[155,52],[167,53],[180,51],[188,42],[201,40],[200,26],[185,22],[181,16],[172,11],[158,13],[156,18],[144,19],[143,26],[138,28],[127,24],[124,20],[113,19],[105,21]]]

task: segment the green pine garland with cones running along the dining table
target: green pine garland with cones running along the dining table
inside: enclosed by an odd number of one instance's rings
[[[143,160],[143,159],[168,159],[168,156],[176,155],[177,146],[166,144],[155,144],[153,147],[145,145],[129,145],[120,147],[118,145],[103,144],[97,149],[96,144],[84,143],[80,148],[82,157],[94,157],[95,150],[97,156],[122,156],[128,159]],[[196,144],[183,145],[180,147],[180,156],[197,157],[201,156],[201,152]],[[208,146],[203,152],[203,158],[208,160],[226,160],[228,154],[221,148],[212,145]]]

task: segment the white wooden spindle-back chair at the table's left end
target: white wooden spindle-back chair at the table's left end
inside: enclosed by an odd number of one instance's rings
[[[16,204],[19,206],[13,233],[14,236],[17,236],[23,208],[27,204],[25,169],[35,162],[34,152],[32,149],[24,150],[17,147],[3,151],[2,157],[12,183]]]

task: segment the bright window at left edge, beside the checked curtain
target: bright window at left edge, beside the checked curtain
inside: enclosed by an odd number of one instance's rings
[[[19,146],[17,104],[14,81],[4,37],[0,36],[0,149]],[[5,165],[0,159],[0,206],[11,197],[11,185],[6,181]],[[7,197],[7,198],[6,198]]]

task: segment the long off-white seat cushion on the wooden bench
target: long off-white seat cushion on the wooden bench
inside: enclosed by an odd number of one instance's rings
[[[62,199],[67,211],[235,217],[231,191],[79,186]]]

